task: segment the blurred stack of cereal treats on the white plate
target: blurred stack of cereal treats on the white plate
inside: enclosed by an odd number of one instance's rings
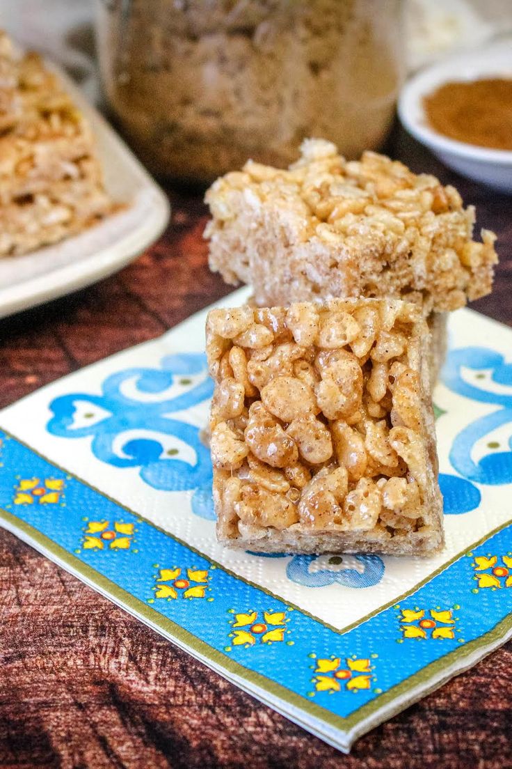
[[[83,115],[40,58],[0,32],[0,256],[55,243],[111,210]]]

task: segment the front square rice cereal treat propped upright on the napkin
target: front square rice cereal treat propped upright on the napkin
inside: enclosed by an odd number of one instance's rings
[[[333,299],[212,310],[217,535],[263,552],[443,543],[421,308]]]

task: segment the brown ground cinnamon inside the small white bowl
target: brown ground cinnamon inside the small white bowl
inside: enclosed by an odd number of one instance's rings
[[[479,147],[512,150],[512,79],[448,82],[424,98],[431,128]]]

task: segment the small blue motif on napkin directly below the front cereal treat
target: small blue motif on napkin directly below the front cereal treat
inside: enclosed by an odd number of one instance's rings
[[[383,575],[384,562],[378,555],[296,555],[286,567],[286,576],[306,588],[335,583],[345,588],[370,588]]]

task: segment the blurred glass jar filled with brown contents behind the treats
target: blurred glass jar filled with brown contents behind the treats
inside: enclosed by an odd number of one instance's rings
[[[104,88],[159,175],[208,182],[302,138],[378,148],[401,85],[401,0],[97,0]]]

